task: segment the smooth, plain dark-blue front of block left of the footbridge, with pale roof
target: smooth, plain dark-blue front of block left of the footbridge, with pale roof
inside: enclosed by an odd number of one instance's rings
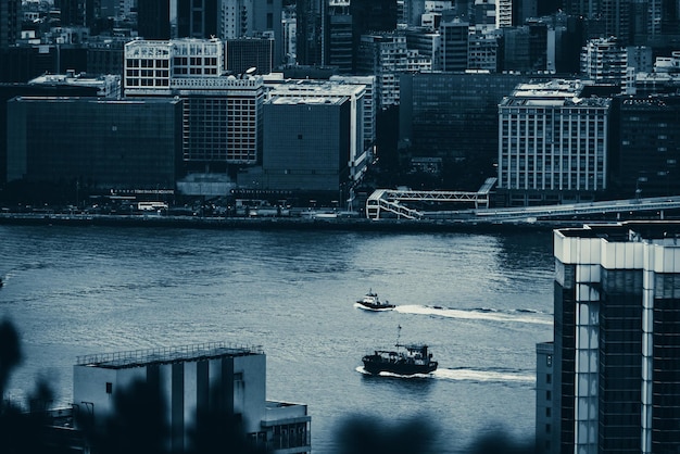
[[[349,97],[272,96],[264,105],[259,187],[339,194],[350,182],[350,102]]]

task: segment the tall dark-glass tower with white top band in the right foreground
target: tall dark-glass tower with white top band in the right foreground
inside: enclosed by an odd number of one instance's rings
[[[680,449],[680,225],[554,232],[554,452]]]

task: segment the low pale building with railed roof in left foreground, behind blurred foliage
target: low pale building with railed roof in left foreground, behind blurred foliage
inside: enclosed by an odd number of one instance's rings
[[[311,452],[306,405],[266,400],[266,356],[260,348],[218,342],[79,356],[73,399],[101,426],[114,414],[115,398],[136,381],[158,390],[166,403],[171,452],[194,447],[191,432],[201,429],[197,417],[207,411],[237,416],[248,439],[267,452]]]

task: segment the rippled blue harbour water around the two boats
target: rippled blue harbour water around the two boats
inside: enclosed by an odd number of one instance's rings
[[[77,355],[228,341],[262,345],[267,398],[305,403],[315,453],[353,415],[425,418],[439,451],[490,428],[534,431],[536,343],[552,340],[552,234],[294,232],[0,226],[0,317],[37,377],[72,396]],[[398,304],[370,313],[373,289]],[[433,307],[438,306],[438,307]],[[372,378],[361,357],[426,342],[430,378]]]

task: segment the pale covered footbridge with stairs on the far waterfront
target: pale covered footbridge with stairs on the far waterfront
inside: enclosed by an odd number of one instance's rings
[[[412,191],[394,189],[377,189],[366,201],[366,217],[379,219],[386,214],[404,219],[421,219],[427,216],[423,211],[405,206],[411,202],[423,204],[427,202],[457,202],[468,203],[475,209],[489,207],[489,193],[495,185],[496,178],[487,178],[477,192],[465,191]],[[471,207],[471,206],[470,206]]]

